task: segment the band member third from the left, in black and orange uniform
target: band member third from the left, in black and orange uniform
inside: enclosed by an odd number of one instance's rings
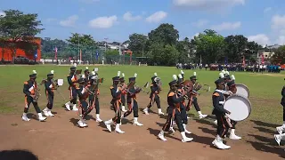
[[[70,110],[70,106],[71,106],[72,110],[74,111],[78,110],[77,109],[77,89],[76,89],[77,75],[75,74],[76,69],[77,69],[76,67],[70,68],[70,73],[68,75],[70,100],[69,102],[65,103],[65,108]]]

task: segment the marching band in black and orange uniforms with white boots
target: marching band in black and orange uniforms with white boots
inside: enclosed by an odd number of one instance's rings
[[[96,110],[96,122],[101,123],[102,119],[100,118],[100,106],[99,106],[99,85],[102,84],[103,78],[100,78],[98,75],[98,68],[90,73],[89,68],[85,68],[84,74],[81,75],[82,69],[77,69],[77,66],[70,68],[70,73],[67,76],[69,83],[69,98],[70,100],[65,103],[65,108],[70,111],[77,111],[79,120],[77,122],[78,126],[84,128],[88,126],[86,123],[85,117],[91,113],[95,108]],[[23,92],[25,94],[25,108],[22,115],[23,121],[29,121],[27,117],[29,105],[32,103],[34,108],[37,111],[38,120],[45,121],[45,116],[54,116],[52,113],[53,109],[53,97],[54,91],[57,91],[58,87],[63,84],[62,79],[53,80],[52,70],[47,74],[47,78],[42,81],[41,84],[45,84],[45,95],[47,99],[46,108],[42,111],[37,105],[37,100],[40,96],[39,88],[37,85],[37,71],[34,70],[31,75],[29,75],[29,80],[24,83]],[[121,120],[129,116],[132,112],[134,114],[134,124],[137,126],[142,126],[143,124],[138,121],[138,101],[137,94],[140,92],[145,92],[141,87],[135,85],[135,80],[137,74],[135,73],[133,77],[129,77],[129,83],[125,84],[125,74],[118,71],[118,75],[112,78],[113,84],[110,86],[111,93],[111,108],[115,112],[115,116],[110,118],[110,120],[104,121],[106,128],[109,132],[111,131],[111,124],[115,124],[115,132],[124,133],[120,129]],[[212,114],[216,116],[216,139],[212,144],[216,148],[228,149],[231,148],[224,144],[223,139],[226,137],[228,130],[231,129],[229,138],[232,140],[240,140],[241,138],[235,135],[235,125],[237,124],[234,121],[233,116],[236,116],[237,113],[231,109],[227,110],[224,108],[226,101],[231,98],[233,94],[236,94],[239,89],[235,87],[235,77],[230,76],[229,72],[222,71],[219,74],[219,78],[215,81],[216,90],[212,94],[213,100],[213,112]],[[191,105],[196,108],[199,118],[205,118],[208,115],[203,115],[200,111],[198,105],[197,95],[199,95],[199,90],[210,90],[208,88],[203,88],[201,84],[197,82],[197,75],[194,72],[193,76],[190,79],[184,79],[184,73],[181,73],[176,76],[173,75],[173,80],[169,82],[169,92],[167,94],[167,122],[163,125],[162,130],[159,132],[159,139],[166,141],[164,137],[165,132],[175,132],[174,125],[177,125],[177,128],[182,136],[183,142],[188,142],[193,140],[193,138],[187,137],[186,134],[191,134],[188,131],[188,116],[187,111],[190,110]],[[144,85],[146,88],[148,83]],[[150,103],[146,108],[142,110],[145,115],[149,115],[149,109],[153,106],[154,103],[157,104],[159,109],[159,115],[164,115],[160,106],[159,92],[161,92],[161,80],[157,73],[154,73],[154,76],[151,77],[151,95]],[[249,93],[248,93],[249,95]],[[78,100],[77,100],[78,98]],[[248,100],[247,98],[245,98]],[[188,100],[188,102],[186,102]],[[125,106],[126,105],[126,106]],[[126,108],[127,107],[127,108]],[[250,108],[249,106],[248,108]],[[42,116],[42,112],[45,116]],[[123,112],[123,114],[122,114]],[[250,113],[249,113],[250,114]],[[246,118],[246,117],[245,117]],[[241,118],[240,120],[244,120]],[[283,128],[281,128],[283,129]],[[281,130],[279,129],[279,130]],[[276,136],[275,136],[275,139]]]

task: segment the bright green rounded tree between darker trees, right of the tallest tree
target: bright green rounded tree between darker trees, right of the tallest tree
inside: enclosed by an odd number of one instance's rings
[[[224,37],[216,34],[216,32],[207,29],[204,33],[200,33],[199,36],[195,36],[191,40],[191,44],[194,45],[195,61],[199,62],[199,58],[202,58],[202,63],[213,63],[221,60],[224,56]]]

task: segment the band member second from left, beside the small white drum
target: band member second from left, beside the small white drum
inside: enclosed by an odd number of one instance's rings
[[[46,108],[43,110],[45,116],[54,116],[52,113],[53,109],[53,97],[54,97],[54,90],[56,90],[55,85],[53,83],[53,73],[54,71],[52,70],[50,74],[47,74],[47,79],[45,80],[45,96],[47,99],[47,104]]]

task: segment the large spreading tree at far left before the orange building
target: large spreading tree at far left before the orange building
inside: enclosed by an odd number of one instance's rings
[[[40,20],[37,20],[37,14],[24,14],[19,10],[4,11],[5,16],[0,16],[0,38],[5,47],[12,50],[12,62],[16,56],[16,50],[20,48],[24,51],[35,51],[39,46],[34,42],[35,36],[44,28]],[[22,45],[22,43],[27,43]],[[27,52],[31,53],[31,52]]]

